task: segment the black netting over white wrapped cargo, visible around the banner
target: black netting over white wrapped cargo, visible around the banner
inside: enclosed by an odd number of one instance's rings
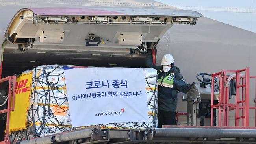
[[[12,140],[27,140],[33,137],[53,135],[72,128],[67,100],[65,76],[62,65],[38,66],[32,71],[31,98],[28,109],[27,129],[11,133]],[[101,124],[111,129],[148,129],[157,126],[158,92],[157,72],[152,68],[143,68],[150,122],[129,122]]]

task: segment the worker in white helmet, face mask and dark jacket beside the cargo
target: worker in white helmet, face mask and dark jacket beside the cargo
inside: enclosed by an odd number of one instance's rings
[[[165,54],[161,60],[162,66],[156,66],[153,64],[152,51],[148,50],[145,63],[147,67],[158,70],[158,128],[176,125],[178,92],[187,93],[194,83],[190,85],[183,80],[171,54]]]

